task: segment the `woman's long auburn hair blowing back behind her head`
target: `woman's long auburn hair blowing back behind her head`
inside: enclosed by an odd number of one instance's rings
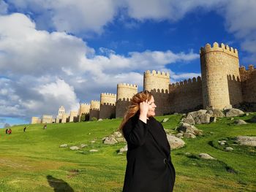
[[[118,128],[119,131],[123,131],[124,124],[127,121],[140,112],[140,103],[146,100],[150,100],[152,94],[149,91],[141,91],[132,97],[131,104],[128,107],[127,112],[124,115],[123,120]]]

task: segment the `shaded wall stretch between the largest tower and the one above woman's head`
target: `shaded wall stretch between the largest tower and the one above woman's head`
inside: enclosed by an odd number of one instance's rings
[[[170,85],[170,112],[188,112],[203,108],[202,81],[194,77]]]

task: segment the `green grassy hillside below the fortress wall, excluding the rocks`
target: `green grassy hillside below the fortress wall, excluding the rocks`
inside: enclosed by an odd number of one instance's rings
[[[252,115],[239,119],[249,120]],[[163,126],[174,131],[181,115],[157,117],[163,118],[170,118]],[[10,135],[0,129],[0,191],[121,191],[127,161],[125,153],[116,151],[125,144],[102,144],[120,122],[119,118],[48,124],[46,129],[35,124],[27,126],[25,133],[24,126],[15,126]],[[186,146],[172,151],[174,191],[256,191],[256,148],[233,140],[238,135],[256,136],[256,123],[236,126],[230,118],[222,118],[197,128],[203,136],[184,139]],[[219,145],[222,139],[234,148],[232,152]],[[70,150],[59,147],[62,144],[87,146]],[[199,153],[217,160],[203,160]]]

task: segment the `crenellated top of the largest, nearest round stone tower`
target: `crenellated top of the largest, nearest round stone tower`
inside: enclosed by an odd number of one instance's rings
[[[238,58],[238,50],[233,49],[233,47],[229,47],[228,45],[224,45],[221,43],[214,42],[214,45],[211,47],[210,44],[206,44],[205,47],[200,48],[200,55],[204,55],[206,53],[210,52],[222,52],[222,53],[227,53],[228,55],[232,55],[236,58]]]

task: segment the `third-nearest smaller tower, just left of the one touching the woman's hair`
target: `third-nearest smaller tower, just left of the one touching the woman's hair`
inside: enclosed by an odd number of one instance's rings
[[[100,94],[99,118],[116,118],[116,94]]]

